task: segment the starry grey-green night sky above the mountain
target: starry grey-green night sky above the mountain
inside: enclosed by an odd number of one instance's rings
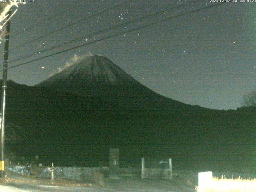
[[[122,2],[126,3],[104,11]],[[192,1],[28,1],[19,6],[18,12],[12,18],[10,61],[142,16],[186,5],[102,34],[88,35],[87,38],[18,62],[10,62],[9,66],[14,66],[175,17],[147,28],[12,68],[8,70],[8,79],[32,86],[58,72],[58,68],[63,68],[74,54],[83,56],[91,52],[108,57],[133,78],[168,98],[206,108],[236,109],[241,106],[243,94],[255,87],[256,3],[222,3],[178,16],[214,4],[210,0],[187,4],[188,2]],[[82,20],[98,12],[102,13]],[[82,21],[12,50],[79,20]],[[1,52],[3,44],[0,45]],[[2,58],[3,56],[1,63]]]

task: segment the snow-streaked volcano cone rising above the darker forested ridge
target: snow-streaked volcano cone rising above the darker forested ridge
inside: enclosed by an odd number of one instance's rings
[[[186,106],[182,102],[153,92],[108,58],[98,55],[79,60],[76,64],[40,82],[35,87],[71,92],[108,102],[127,103],[133,100],[138,103],[171,103],[173,107]]]

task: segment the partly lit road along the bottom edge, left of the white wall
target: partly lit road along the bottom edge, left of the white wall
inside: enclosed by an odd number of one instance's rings
[[[197,174],[195,174],[197,176]],[[0,182],[0,192],[196,192],[196,182],[190,182],[194,174],[174,176],[171,180],[141,179],[125,177],[103,179],[103,186],[92,183],[70,182],[9,175],[5,182]]]

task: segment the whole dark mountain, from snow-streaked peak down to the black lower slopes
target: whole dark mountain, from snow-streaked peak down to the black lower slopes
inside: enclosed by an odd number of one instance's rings
[[[201,170],[241,168],[255,155],[255,112],[166,98],[101,56],[34,87],[8,81],[6,101],[7,124],[29,133],[12,149],[28,158],[39,155],[44,164],[97,166],[108,162],[110,147],[120,148],[121,162],[140,166],[142,156],[167,156],[175,166]]]

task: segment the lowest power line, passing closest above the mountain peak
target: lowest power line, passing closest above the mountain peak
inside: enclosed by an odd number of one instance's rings
[[[199,12],[201,10],[205,10],[205,9],[208,9],[208,8],[212,8],[214,6],[218,6],[218,5],[223,5],[224,3],[217,3],[217,4],[214,4],[214,5],[211,5],[211,6],[207,6],[207,7],[203,7],[203,8],[199,8],[199,9],[196,9],[196,10],[193,10],[193,11],[189,11],[189,12],[186,12],[186,13],[183,13],[183,14],[180,14],[180,15],[177,15],[177,16],[172,16],[172,17],[169,17],[169,18],[165,18],[163,20],[160,20],[160,21],[157,21],[157,22],[153,22],[153,23],[150,23],[150,24],[147,24],[147,25],[144,25],[144,26],[141,26],[141,27],[138,27],[138,28],[134,28],[134,29],[130,29],[130,30],[127,30],[125,32],[120,32],[118,34],[114,34],[112,36],[108,36],[108,37],[105,37],[105,38],[101,38],[99,40],[96,40],[94,42],[89,42],[89,43],[86,43],[86,44],[82,44],[82,45],[79,45],[79,46],[75,46],[73,48],[69,48],[69,49],[66,49],[66,50],[62,50],[60,52],[56,52],[54,54],[50,54],[50,55],[47,55],[47,56],[44,56],[44,57],[41,57],[41,58],[37,58],[37,59],[34,59],[34,60],[30,60],[28,62],[24,62],[24,63],[21,63],[21,64],[18,64],[18,65],[14,65],[14,66],[11,66],[11,67],[8,67],[8,69],[10,68],[15,68],[15,67],[18,67],[18,66],[21,66],[21,65],[24,65],[24,64],[28,64],[28,63],[31,63],[31,62],[34,62],[34,61],[37,61],[37,60],[41,60],[41,59],[44,59],[44,58],[48,58],[50,56],[54,56],[54,55],[57,55],[57,54],[60,54],[60,53],[64,53],[64,52],[67,52],[67,51],[70,51],[70,50],[73,50],[73,49],[76,49],[76,48],[80,48],[80,47],[83,47],[83,46],[86,46],[86,45],[89,45],[89,44],[93,44],[93,43],[97,43],[97,42],[100,42],[102,40],[106,40],[106,39],[109,39],[109,38],[112,38],[112,37],[115,37],[115,36],[119,36],[121,34],[126,34],[126,33],[129,33],[129,32],[133,32],[133,31],[136,31],[136,30],[140,30],[142,28],[146,28],[148,26],[152,26],[154,24],[159,24],[161,22],[164,22],[164,21],[167,21],[167,20],[170,20],[170,19],[174,19],[174,18],[178,18],[180,16],[184,16],[186,14],[190,14],[190,13],[194,13],[194,12]],[[2,71],[2,70],[1,70]]]

